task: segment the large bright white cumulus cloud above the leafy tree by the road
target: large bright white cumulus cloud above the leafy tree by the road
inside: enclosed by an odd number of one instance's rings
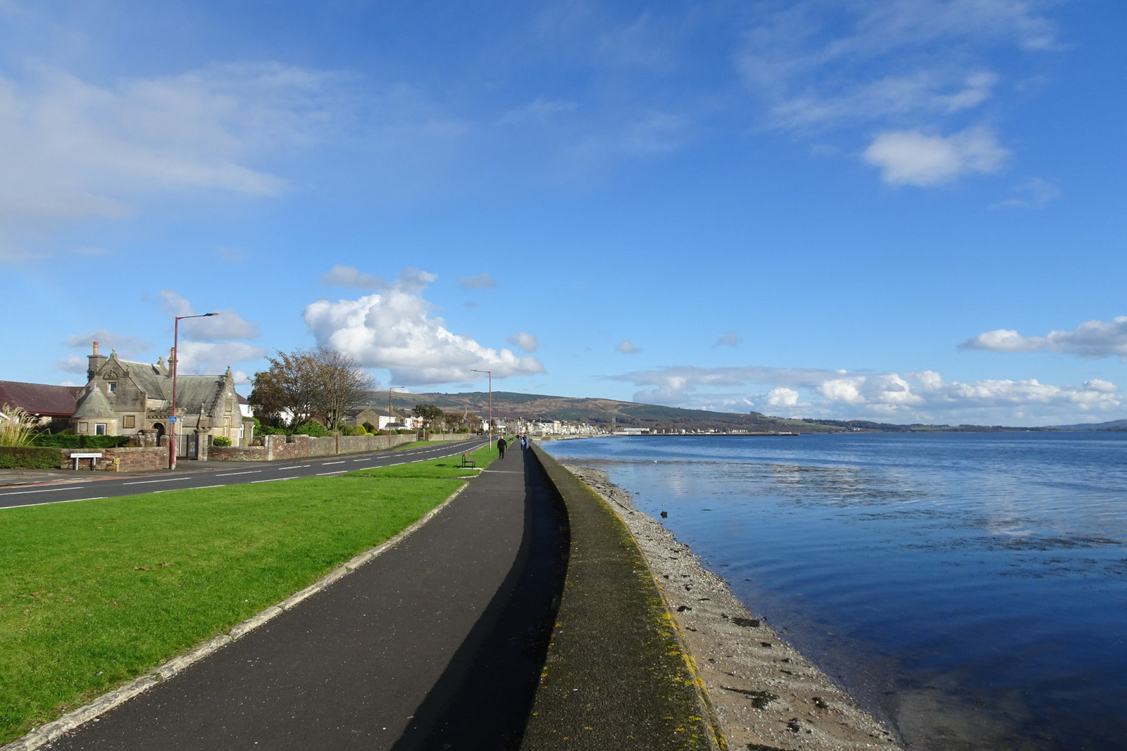
[[[446,329],[420,294],[435,278],[405,269],[378,294],[312,303],[303,314],[305,324],[319,346],[350,355],[364,367],[388,368],[392,382],[408,385],[472,381],[474,369],[491,370],[498,378],[544,372],[535,357],[483,347]]]

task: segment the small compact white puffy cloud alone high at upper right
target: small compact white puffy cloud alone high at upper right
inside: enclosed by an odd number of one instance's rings
[[[881,133],[863,157],[880,168],[885,182],[926,187],[968,172],[997,171],[1009,153],[988,128],[974,127],[950,136],[919,131]]]

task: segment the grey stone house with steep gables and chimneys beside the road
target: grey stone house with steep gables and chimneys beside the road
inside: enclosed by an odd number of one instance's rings
[[[172,432],[172,351],[166,364],[134,363],[98,354],[88,355],[87,384],[76,400],[71,428],[79,435],[160,437]],[[228,367],[223,375],[176,377],[176,417],[181,435],[224,436],[232,446],[249,446],[254,423],[245,418],[234,378]]]

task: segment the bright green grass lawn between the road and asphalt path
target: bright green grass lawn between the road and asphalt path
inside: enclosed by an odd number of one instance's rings
[[[0,744],[394,536],[459,463],[0,510]]]

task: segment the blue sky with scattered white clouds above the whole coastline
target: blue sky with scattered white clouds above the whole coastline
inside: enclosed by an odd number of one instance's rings
[[[0,378],[1127,417],[1127,5],[0,0]],[[249,386],[242,387],[249,391]]]

